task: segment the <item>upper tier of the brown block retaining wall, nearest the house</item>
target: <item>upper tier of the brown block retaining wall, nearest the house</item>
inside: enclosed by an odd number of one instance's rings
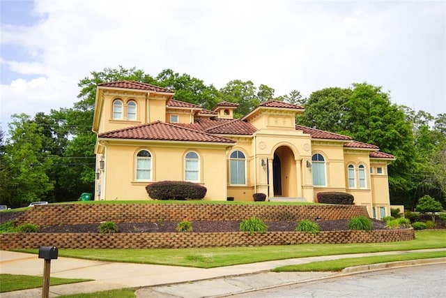
[[[41,227],[79,223],[145,223],[156,221],[242,221],[257,216],[263,221],[332,221],[369,216],[355,205],[268,205],[262,204],[58,204],[39,205],[17,219],[17,225]]]

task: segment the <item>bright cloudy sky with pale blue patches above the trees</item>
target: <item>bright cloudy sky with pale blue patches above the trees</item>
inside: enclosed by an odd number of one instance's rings
[[[307,97],[355,82],[446,112],[446,1],[0,0],[0,125],[72,107],[104,68]]]

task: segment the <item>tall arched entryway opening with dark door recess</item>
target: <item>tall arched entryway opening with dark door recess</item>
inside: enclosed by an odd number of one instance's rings
[[[297,196],[297,177],[293,151],[286,146],[278,147],[272,160],[272,186],[274,196]]]

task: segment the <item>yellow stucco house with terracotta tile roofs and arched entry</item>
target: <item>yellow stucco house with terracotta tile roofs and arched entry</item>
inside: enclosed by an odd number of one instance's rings
[[[153,181],[192,181],[205,200],[314,202],[344,191],[370,216],[390,215],[387,165],[394,156],[346,135],[295,124],[303,107],[261,103],[241,119],[238,107],[213,110],[174,100],[174,91],[141,82],[98,84],[93,131],[95,200],[149,200]]]

